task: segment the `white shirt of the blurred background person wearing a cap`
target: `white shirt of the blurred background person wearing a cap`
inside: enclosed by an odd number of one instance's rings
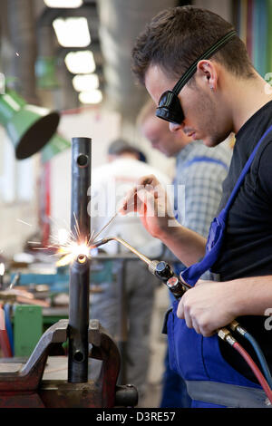
[[[137,181],[150,174],[155,175],[165,188],[170,184],[170,179],[160,170],[127,157],[92,170],[91,228],[95,234],[112,218],[121,206],[121,200]],[[154,258],[161,254],[160,240],[151,237],[134,212],[114,218],[98,238],[102,237],[121,237],[147,257]],[[127,251],[116,241],[111,241],[102,248],[112,255]]]

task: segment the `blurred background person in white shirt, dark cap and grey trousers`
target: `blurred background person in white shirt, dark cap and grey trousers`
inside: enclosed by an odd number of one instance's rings
[[[126,140],[113,140],[108,149],[108,162],[92,170],[91,217],[95,233],[112,218],[127,190],[132,188],[143,174],[156,175],[165,188],[170,184],[169,177],[140,160],[143,157],[142,152]],[[163,246],[160,240],[152,238],[142,228],[137,213],[126,218],[117,216],[109,227],[102,231],[99,238],[112,236],[121,237],[147,257],[157,258],[161,255]],[[107,243],[102,249],[111,256],[133,256],[131,251],[116,241]],[[122,266],[124,270],[121,270]],[[119,280],[121,275],[125,288],[125,294],[122,295]],[[139,404],[148,380],[151,315],[154,290],[158,284],[160,281],[151,275],[141,260],[127,260],[125,263],[113,260],[112,280],[103,282],[100,286],[102,293],[93,294],[91,298],[91,317],[100,320],[102,326],[117,342],[121,340],[121,296],[126,299],[128,321],[125,326],[128,326],[128,330],[126,342],[121,342],[125,344],[125,359],[122,362],[126,365],[126,382],[134,384],[138,389]]]

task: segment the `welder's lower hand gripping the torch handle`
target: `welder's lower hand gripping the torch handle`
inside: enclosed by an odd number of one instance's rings
[[[199,280],[182,296],[177,315],[189,328],[209,337],[235,319],[234,294],[231,282]]]

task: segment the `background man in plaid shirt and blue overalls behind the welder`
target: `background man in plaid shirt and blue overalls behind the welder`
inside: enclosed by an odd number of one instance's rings
[[[182,131],[172,133],[168,122],[160,120],[155,113],[156,105],[151,100],[142,108],[138,125],[141,134],[150,140],[154,149],[176,159],[173,180],[176,218],[183,226],[208,237],[209,225],[219,208],[222,183],[227,177],[231,160],[228,141],[225,146],[210,150],[201,140],[192,140]],[[178,275],[185,268],[177,257],[173,266]],[[202,279],[214,277],[208,272]],[[173,302],[171,293],[170,300]],[[170,369],[167,351],[160,407],[189,406],[186,384],[179,374]]]

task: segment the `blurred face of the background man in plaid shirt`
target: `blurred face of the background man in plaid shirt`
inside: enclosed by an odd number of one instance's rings
[[[156,117],[156,105],[147,102],[140,111],[137,123],[142,135],[150,140],[152,148],[160,150],[167,157],[178,154],[191,139],[182,131],[171,132],[167,121]]]

